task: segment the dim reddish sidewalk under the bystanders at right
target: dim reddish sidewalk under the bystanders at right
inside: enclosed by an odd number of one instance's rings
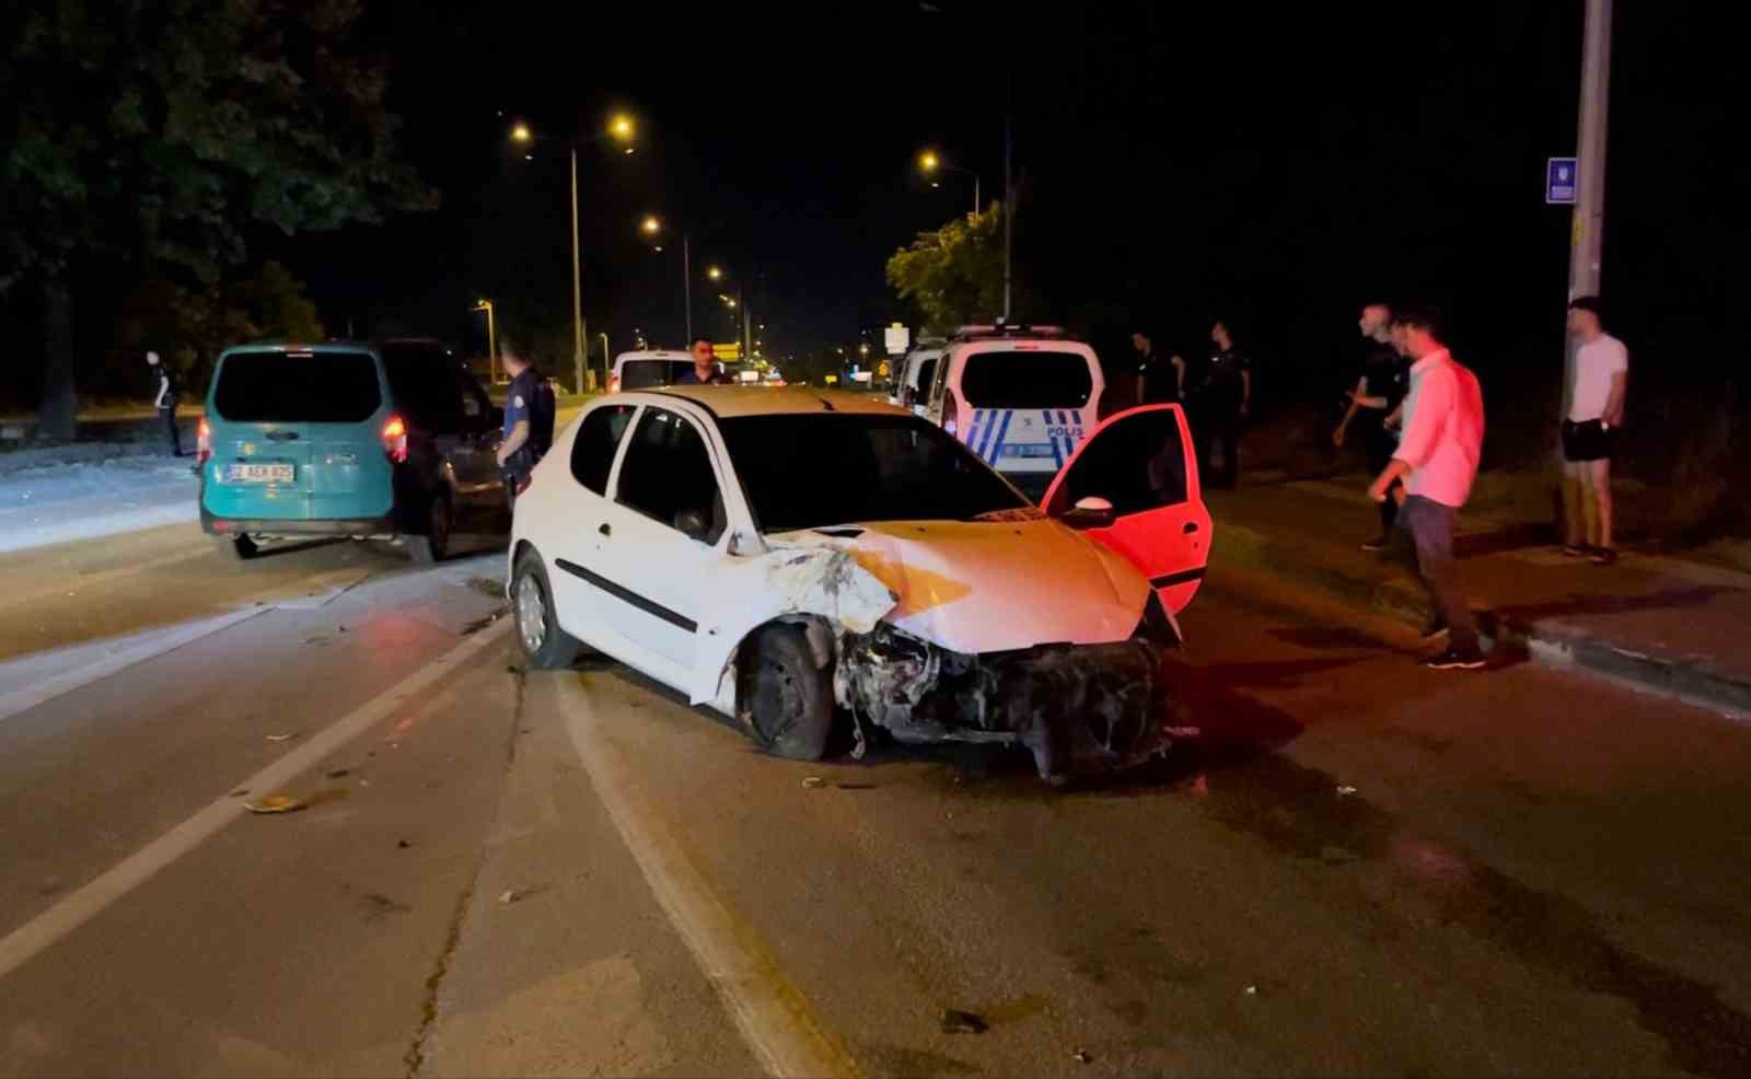
[[[1366,476],[1261,482],[1208,494],[1213,564],[1262,573],[1422,624],[1397,561],[1361,550],[1378,520]],[[1460,515],[1460,576],[1497,646],[1653,692],[1751,713],[1751,575],[1623,548],[1616,566],[1565,559],[1550,522]]]

